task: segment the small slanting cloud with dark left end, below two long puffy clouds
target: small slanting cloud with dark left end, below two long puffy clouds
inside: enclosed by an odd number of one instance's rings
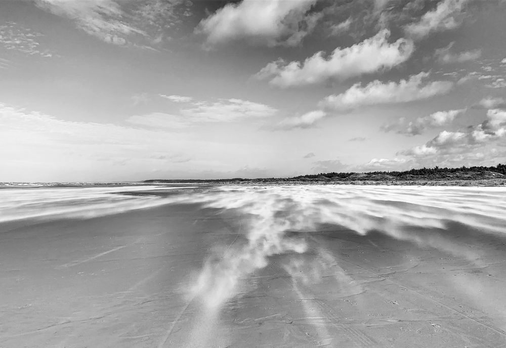
[[[464,111],[466,111],[466,109],[437,111],[429,116],[418,117],[411,122],[406,122],[406,119],[402,117],[395,123],[383,125],[382,130],[385,132],[395,130],[398,134],[410,136],[420,135],[423,134],[426,129],[441,127],[451,123],[456,116]]]

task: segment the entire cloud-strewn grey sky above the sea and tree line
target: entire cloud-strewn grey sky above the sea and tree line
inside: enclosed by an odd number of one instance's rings
[[[0,0],[0,182],[506,162],[505,0]]]

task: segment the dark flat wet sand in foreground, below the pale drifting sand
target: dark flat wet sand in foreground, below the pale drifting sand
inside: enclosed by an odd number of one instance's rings
[[[293,231],[305,252],[269,257],[209,308],[190,289],[209,257],[246,243],[244,221],[174,204],[1,224],[0,346],[506,346],[499,234]]]

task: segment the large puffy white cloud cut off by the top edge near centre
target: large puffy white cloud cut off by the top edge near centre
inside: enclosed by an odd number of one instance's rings
[[[296,46],[313,31],[321,14],[311,13],[317,0],[243,0],[229,3],[202,19],[196,33],[206,35],[205,47],[236,40],[256,45]]]

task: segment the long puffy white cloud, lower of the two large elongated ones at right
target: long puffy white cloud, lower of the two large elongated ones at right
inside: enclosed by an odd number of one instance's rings
[[[450,81],[424,82],[428,76],[429,73],[420,72],[407,80],[401,79],[398,83],[374,80],[362,86],[358,82],[344,93],[326,97],[320,106],[343,111],[361,106],[406,103],[446,94],[453,88],[453,82]]]

